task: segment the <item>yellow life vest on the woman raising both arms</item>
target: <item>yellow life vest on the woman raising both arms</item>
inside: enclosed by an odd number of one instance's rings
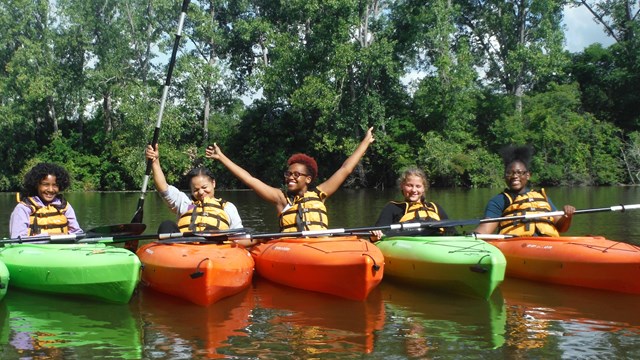
[[[287,207],[280,213],[280,231],[295,232],[307,230],[325,230],[329,228],[327,208],[324,199],[327,194],[314,189],[304,193],[287,197]]]

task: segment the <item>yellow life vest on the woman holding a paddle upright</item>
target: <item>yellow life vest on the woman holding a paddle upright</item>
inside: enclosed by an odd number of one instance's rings
[[[178,229],[180,232],[227,230],[229,215],[224,211],[227,202],[214,197],[206,197],[203,201],[194,201],[189,210],[180,215]]]

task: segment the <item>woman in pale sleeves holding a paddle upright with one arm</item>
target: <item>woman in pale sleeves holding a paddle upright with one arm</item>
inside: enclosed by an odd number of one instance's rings
[[[167,184],[160,166],[158,145],[155,149],[148,145],[145,155],[152,161],[156,190],[171,211],[178,215],[177,223],[170,220],[162,222],[158,228],[159,234],[242,228],[236,206],[214,197],[216,180],[207,168],[196,167],[187,173],[191,187],[191,196],[187,196],[175,186]]]

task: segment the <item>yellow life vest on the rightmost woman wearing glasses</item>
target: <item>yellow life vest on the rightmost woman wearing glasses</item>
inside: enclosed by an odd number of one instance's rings
[[[502,216],[520,216],[552,211],[544,189],[541,189],[540,192],[529,190],[524,194],[519,194],[515,199],[506,191],[503,194],[509,200],[509,206],[502,211]],[[500,234],[517,236],[560,236],[552,216],[501,221],[498,229]]]

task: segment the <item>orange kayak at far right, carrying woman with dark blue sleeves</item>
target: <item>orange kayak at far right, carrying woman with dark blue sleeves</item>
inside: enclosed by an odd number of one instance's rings
[[[640,294],[640,247],[600,236],[487,240],[510,277]]]

